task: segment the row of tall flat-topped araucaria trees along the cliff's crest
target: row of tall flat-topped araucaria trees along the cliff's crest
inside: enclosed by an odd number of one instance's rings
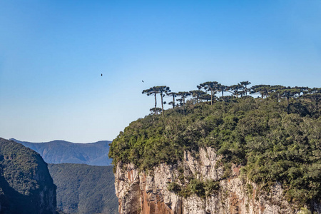
[[[316,105],[321,100],[321,88],[309,88],[302,86],[280,86],[280,85],[255,85],[250,86],[250,81],[241,81],[240,83],[232,86],[225,86],[217,81],[207,81],[205,83],[200,83],[196,86],[198,90],[193,91],[179,91],[173,92],[170,90],[169,86],[153,86],[151,88],[145,89],[142,93],[147,96],[155,97],[155,106],[151,108],[150,111],[157,115],[162,113],[164,118],[164,107],[163,104],[166,104],[166,101],[163,101],[163,97],[168,96],[173,98],[173,101],[170,101],[168,104],[175,107],[183,106],[183,111],[185,112],[185,103],[188,98],[192,97],[190,101],[193,103],[198,103],[202,101],[209,102],[213,105],[213,102],[218,101],[228,101],[230,98],[238,98],[248,95],[258,95],[261,98],[273,98],[273,99],[286,99],[289,104],[290,99],[293,98],[308,98],[311,101],[315,101]],[[210,92],[210,93],[208,93]],[[230,96],[224,96],[224,93],[230,93]],[[161,96],[161,108],[157,108],[157,98],[156,95]],[[220,94],[220,97],[216,96]],[[178,103],[175,103],[177,101]],[[318,106],[316,106],[317,108]]]

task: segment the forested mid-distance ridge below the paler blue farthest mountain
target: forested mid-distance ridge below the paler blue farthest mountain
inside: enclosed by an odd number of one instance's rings
[[[63,213],[118,213],[113,166],[49,164],[57,185],[57,207]]]

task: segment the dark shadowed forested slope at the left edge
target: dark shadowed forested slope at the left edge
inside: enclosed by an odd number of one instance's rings
[[[0,213],[56,213],[56,185],[38,153],[0,138]]]

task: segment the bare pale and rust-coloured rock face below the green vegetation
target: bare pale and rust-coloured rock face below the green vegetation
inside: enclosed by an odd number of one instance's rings
[[[133,164],[118,163],[115,175],[119,213],[297,213],[287,203],[282,187],[276,183],[267,193],[240,176],[233,165],[232,175],[223,179],[220,157],[213,148],[201,148],[199,156],[185,152],[182,163],[161,164],[153,172],[139,172]],[[198,196],[179,195],[168,190],[170,183],[186,186],[190,178],[219,182],[218,190]],[[320,213],[320,205],[315,205]]]

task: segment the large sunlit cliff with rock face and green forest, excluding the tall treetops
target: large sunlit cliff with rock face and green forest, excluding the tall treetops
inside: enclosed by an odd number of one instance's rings
[[[320,110],[243,97],[134,121],[109,153],[119,212],[320,213]]]

